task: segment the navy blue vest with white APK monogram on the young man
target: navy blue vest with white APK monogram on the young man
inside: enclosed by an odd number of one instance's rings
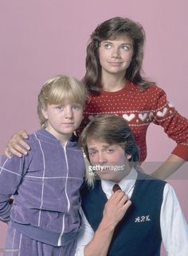
[[[138,172],[131,207],[116,226],[108,256],[160,255],[160,210],[165,184],[162,180]],[[83,187],[81,197],[84,214],[96,231],[107,202],[100,180],[96,180],[93,189]]]

